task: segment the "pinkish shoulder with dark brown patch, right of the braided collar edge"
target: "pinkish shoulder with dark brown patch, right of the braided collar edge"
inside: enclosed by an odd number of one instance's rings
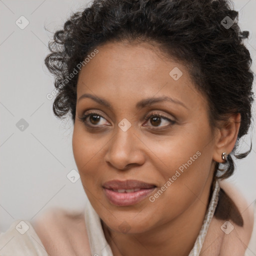
[[[225,180],[218,182],[218,204],[205,237],[204,248],[208,249],[202,255],[215,255],[213,250],[223,256],[244,255],[253,229],[253,203],[248,203],[234,184]]]

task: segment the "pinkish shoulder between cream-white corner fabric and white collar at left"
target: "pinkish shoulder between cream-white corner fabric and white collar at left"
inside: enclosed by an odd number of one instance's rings
[[[90,255],[83,212],[51,208],[33,227],[50,255]]]

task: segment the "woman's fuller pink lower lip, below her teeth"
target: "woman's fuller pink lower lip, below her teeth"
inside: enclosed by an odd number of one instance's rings
[[[108,200],[115,205],[118,206],[128,206],[136,204],[142,201],[145,197],[147,197],[155,187],[140,189],[139,191],[130,192],[130,193],[118,193],[114,192],[111,189],[103,188],[106,197]]]

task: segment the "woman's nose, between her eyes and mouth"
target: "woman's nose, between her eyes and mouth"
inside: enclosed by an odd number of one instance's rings
[[[145,161],[145,146],[132,127],[123,131],[117,127],[116,134],[108,143],[105,161],[118,170],[126,170],[131,166],[142,165]]]

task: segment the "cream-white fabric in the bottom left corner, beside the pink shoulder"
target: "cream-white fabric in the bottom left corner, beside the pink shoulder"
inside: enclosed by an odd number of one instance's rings
[[[0,233],[0,248],[1,255],[48,255],[28,220],[12,221],[9,228]]]

